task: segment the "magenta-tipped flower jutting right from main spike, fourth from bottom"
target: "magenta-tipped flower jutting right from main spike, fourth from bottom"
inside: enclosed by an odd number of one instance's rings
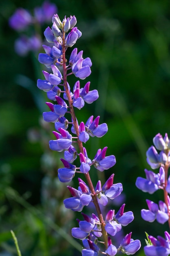
[[[99,149],[92,163],[95,168],[99,171],[108,170],[116,164],[116,159],[114,155],[109,155],[106,157],[107,147],[104,147],[102,150]]]

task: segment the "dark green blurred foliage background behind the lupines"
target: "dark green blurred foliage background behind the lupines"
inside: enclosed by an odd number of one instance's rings
[[[77,256],[82,244],[70,236],[80,213],[64,209],[63,199],[70,196],[66,184],[57,180],[62,153],[51,152],[53,124],[44,124],[46,94],[37,86],[44,66],[38,53],[25,57],[14,51],[18,33],[8,25],[18,7],[32,11],[42,0],[6,0],[0,7],[0,256],[17,255],[10,233],[18,238],[22,256]],[[170,1],[169,0],[55,0],[58,14],[75,15],[82,37],[78,50],[93,63],[91,90],[99,99],[79,111],[77,119],[86,122],[100,115],[108,133],[86,143],[93,159],[98,148],[108,146],[117,164],[104,173],[91,170],[94,185],[115,173],[114,182],[124,187],[125,210],[135,219],[124,228],[132,238],[145,245],[145,234],[163,236],[168,225],[141,219],[146,198],[158,202],[162,192],[148,195],[135,187],[144,177],[146,150],[160,132],[170,136]],[[51,27],[51,23],[46,26]],[[40,52],[44,52],[43,49]],[[68,55],[69,55],[68,51]],[[71,86],[77,81],[69,78]],[[157,172],[157,170],[155,170]],[[75,178],[71,186],[77,187]],[[119,209],[111,202],[108,209]],[[84,212],[89,213],[84,208]],[[143,256],[141,249],[136,255]]]

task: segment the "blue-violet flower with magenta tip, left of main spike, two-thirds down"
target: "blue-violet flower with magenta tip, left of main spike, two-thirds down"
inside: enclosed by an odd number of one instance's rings
[[[73,164],[70,164],[69,162],[67,162],[62,158],[60,160],[64,164],[64,168],[58,169],[58,178],[60,182],[70,182],[75,176],[76,166]]]

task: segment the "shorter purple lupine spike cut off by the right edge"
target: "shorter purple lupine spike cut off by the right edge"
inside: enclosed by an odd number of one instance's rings
[[[155,193],[158,189],[163,190],[164,202],[159,201],[158,204],[146,200],[148,209],[141,210],[141,217],[148,221],[154,222],[157,220],[160,224],[168,221],[170,227],[170,176],[168,177],[168,168],[170,166],[170,139],[167,133],[163,137],[158,133],[153,138],[154,146],[151,146],[147,152],[147,162],[152,169],[159,168],[159,173],[145,170],[146,178],[137,177],[136,186],[143,192],[150,194]],[[158,152],[159,150],[160,152]],[[158,236],[157,239],[153,236],[148,236],[149,245],[144,247],[146,256],[170,254],[170,235],[165,231],[166,239]]]

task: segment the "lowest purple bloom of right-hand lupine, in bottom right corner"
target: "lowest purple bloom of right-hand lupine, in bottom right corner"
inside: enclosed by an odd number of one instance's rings
[[[165,238],[148,236],[152,245],[146,245],[144,252],[146,256],[168,256],[170,254],[170,234],[165,231]]]

